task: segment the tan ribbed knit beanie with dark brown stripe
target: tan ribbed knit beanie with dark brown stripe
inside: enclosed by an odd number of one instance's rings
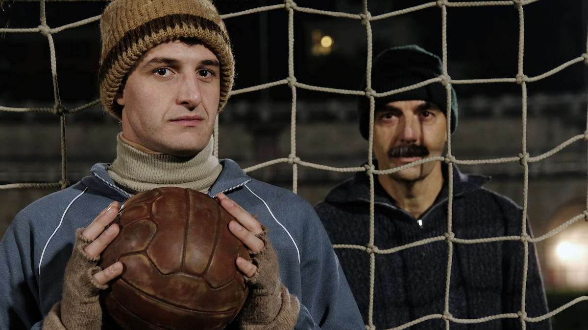
[[[202,41],[220,62],[222,110],[235,76],[235,62],[225,23],[209,0],[115,0],[100,23],[102,58],[98,79],[106,110],[121,120],[122,107],[114,102],[126,73],[147,50],[172,39]]]

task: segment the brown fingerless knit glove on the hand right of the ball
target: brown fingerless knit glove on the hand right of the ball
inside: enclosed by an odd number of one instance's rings
[[[252,277],[245,277],[249,297],[239,312],[238,322],[243,330],[293,329],[300,304],[280,281],[278,255],[268,238],[268,228],[256,235],[265,246],[257,253],[249,251],[251,261],[258,267]]]

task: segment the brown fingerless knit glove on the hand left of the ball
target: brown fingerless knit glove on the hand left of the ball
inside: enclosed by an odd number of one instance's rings
[[[44,330],[99,330],[102,328],[102,308],[98,295],[108,285],[98,285],[92,275],[101,271],[97,267],[100,256],[90,258],[83,251],[92,241],[82,236],[84,228],[76,230],[74,251],[65,266],[64,290],[43,322]]]

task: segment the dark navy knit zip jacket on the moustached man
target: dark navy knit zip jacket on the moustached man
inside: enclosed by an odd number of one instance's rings
[[[443,189],[433,206],[418,220],[395,205],[376,176],[375,245],[379,250],[447,232],[447,169],[447,164],[443,163]],[[452,231],[456,238],[521,234],[522,209],[509,198],[483,188],[489,180],[486,176],[462,174],[453,165]],[[325,200],[316,205],[315,210],[333,244],[368,244],[369,196],[369,177],[358,173],[333,188]],[[527,233],[531,234],[528,221]],[[367,323],[370,256],[356,249],[335,251]],[[440,240],[392,254],[376,254],[373,323],[377,329],[393,328],[430,314],[443,315],[448,251],[447,242]],[[520,311],[523,260],[521,241],[453,243],[450,314],[455,318],[473,319]],[[529,244],[527,274],[527,316],[546,314],[547,301],[532,243]],[[450,323],[450,329],[521,328],[518,318],[479,324]],[[549,319],[527,322],[526,326],[527,329],[551,328]],[[445,321],[429,319],[410,329],[445,329]]]

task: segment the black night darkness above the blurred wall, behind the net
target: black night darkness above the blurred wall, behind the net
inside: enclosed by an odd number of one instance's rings
[[[221,14],[280,4],[280,1],[216,1]],[[424,4],[425,1],[370,1],[372,16]],[[108,2],[48,2],[47,22],[51,27],[99,15]],[[299,6],[327,11],[359,13],[361,1],[296,1]],[[524,72],[536,76],[586,52],[586,0],[541,0],[524,8]],[[441,9],[423,9],[373,21],[374,55],[390,46],[416,43],[442,55]],[[268,28],[260,28],[260,17]],[[512,78],[517,73],[519,16],[515,6],[447,8],[449,75],[453,79]],[[236,58],[235,89],[272,82],[288,76],[288,14],[275,9],[267,14],[250,14],[225,19]],[[4,1],[0,26],[34,28],[39,25],[38,2]],[[311,33],[316,28],[339,35],[329,55],[310,53]],[[260,30],[262,33],[260,33]],[[265,31],[265,32],[263,32]],[[351,31],[348,33],[348,31]],[[295,75],[308,85],[358,89],[366,67],[366,33],[359,20],[295,12]],[[58,78],[62,99],[93,100],[98,97],[96,71],[99,62],[99,22],[68,29],[54,35],[58,56]],[[260,40],[265,39],[263,43]],[[267,52],[263,52],[263,45]],[[51,101],[53,88],[46,37],[40,33],[0,35],[0,100]],[[583,92],[587,70],[581,63],[550,78],[528,84],[529,94]],[[460,96],[504,93],[520,94],[516,83],[456,86]],[[262,93],[264,93],[262,95]],[[238,96],[257,100],[287,101],[287,86],[269,92]],[[300,99],[343,97],[300,90]],[[344,97],[343,97],[344,98]]]

